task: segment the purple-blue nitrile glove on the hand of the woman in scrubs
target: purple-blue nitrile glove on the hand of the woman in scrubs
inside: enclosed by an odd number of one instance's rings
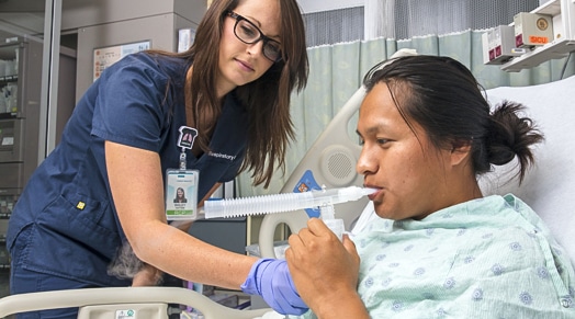
[[[255,262],[241,290],[261,296],[273,310],[282,315],[298,316],[308,310],[295,290],[285,260],[260,259]]]

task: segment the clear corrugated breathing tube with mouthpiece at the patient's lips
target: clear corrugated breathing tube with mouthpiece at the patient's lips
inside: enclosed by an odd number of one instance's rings
[[[334,204],[358,201],[374,192],[374,189],[348,186],[303,193],[283,193],[252,197],[215,200],[206,201],[203,210],[205,213],[205,218],[218,218],[273,214],[319,207],[322,219],[326,221],[326,225],[337,225],[334,227],[336,229],[341,228],[341,231],[337,231],[342,233],[342,220],[327,221],[337,220],[335,219]]]

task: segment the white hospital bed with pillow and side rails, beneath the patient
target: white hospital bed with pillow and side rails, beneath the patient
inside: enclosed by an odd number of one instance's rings
[[[497,88],[487,91],[495,104],[504,99],[525,103],[527,115],[537,121],[545,135],[545,141],[535,150],[537,167],[528,172],[519,186],[506,183],[510,166],[496,168],[481,180],[485,195],[512,192],[527,202],[550,226],[557,241],[563,244],[572,261],[575,261],[575,134],[571,130],[575,122],[575,103],[571,92],[575,88],[575,76],[540,86],[523,88]],[[302,162],[291,174],[282,192],[293,192],[309,171],[316,182],[326,187],[361,185],[362,179],[354,172],[360,148],[354,138],[347,135],[348,122],[364,96],[360,88],[343,105],[323,135],[308,150]],[[339,168],[331,170],[329,168]],[[343,218],[347,229],[357,231],[370,218],[377,218],[373,205],[364,201],[337,204],[336,217]],[[267,215],[260,231],[262,257],[275,257],[274,231],[288,225],[297,232],[305,227],[308,212],[296,210]],[[206,319],[255,318],[269,314],[271,309],[237,310],[212,301],[207,297],[185,288],[176,287],[120,287],[59,290],[8,296],[0,299],[0,318],[10,314],[36,309],[80,307],[79,318],[131,318],[117,311],[137,310],[135,318],[167,318],[168,304],[181,304],[200,310]]]

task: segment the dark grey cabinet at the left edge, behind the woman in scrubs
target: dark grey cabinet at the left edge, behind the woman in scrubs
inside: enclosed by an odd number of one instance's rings
[[[75,104],[76,55],[59,59],[58,123],[61,132]],[[38,164],[43,44],[18,41],[0,45],[0,297],[8,295],[8,219]],[[60,128],[58,132],[58,127]]]

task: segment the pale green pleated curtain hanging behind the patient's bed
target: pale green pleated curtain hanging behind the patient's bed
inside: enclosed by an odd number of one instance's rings
[[[306,151],[322,134],[335,114],[360,88],[365,72],[401,48],[418,54],[452,57],[472,70],[487,90],[497,87],[542,84],[575,75],[574,59],[550,60],[520,72],[505,72],[499,66],[483,64],[482,34],[466,31],[449,35],[413,37],[405,41],[377,38],[308,48],[309,79],[304,91],[292,96],[292,119],[296,138],[286,157],[286,171],[278,171],[268,190],[253,187],[248,173],[236,181],[238,196],[279,193]],[[348,127],[354,134],[354,126]]]

